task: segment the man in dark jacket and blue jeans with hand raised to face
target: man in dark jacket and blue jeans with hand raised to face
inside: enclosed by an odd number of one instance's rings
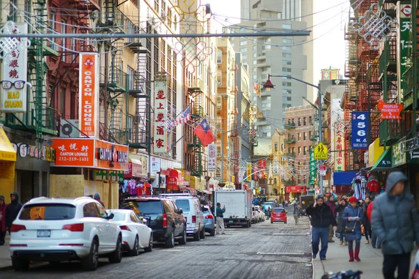
[[[330,224],[333,229],[337,229],[336,218],[332,213],[332,209],[324,202],[323,194],[316,196],[316,203],[309,206],[306,210],[307,215],[311,217],[311,249],[313,250],[313,259],[316,259],[318,253],[318,244],[321,241],[320,259],[326,259],[328,251],[328,233]]]

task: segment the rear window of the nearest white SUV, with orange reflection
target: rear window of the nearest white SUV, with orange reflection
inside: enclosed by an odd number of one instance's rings
[[[20,220],[69,220],[75,217],[75,206],[66,203],[38,203],[24,206]]]

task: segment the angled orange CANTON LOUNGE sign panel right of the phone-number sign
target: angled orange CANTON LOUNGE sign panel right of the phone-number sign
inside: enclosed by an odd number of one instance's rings
[[[128,171],[128,146],[96,140],[96,169]]]

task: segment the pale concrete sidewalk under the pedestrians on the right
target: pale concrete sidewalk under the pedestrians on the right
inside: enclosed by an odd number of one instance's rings
[[[329,243],[326,260],[321,261],[319,257],[313,259],[313,278],[320,279],[325,273],[353,270],[362,271],[361,278],[383,278],[383,253],[381,249],[372,248],[371,243],[365,244],[365,238],[361,239],[360,259],[361,262],[348,262],[348,246],[339,245],[337,238],[335,243]],[[413,250],[411,257],[411,273],[415,262],[416,250]]]

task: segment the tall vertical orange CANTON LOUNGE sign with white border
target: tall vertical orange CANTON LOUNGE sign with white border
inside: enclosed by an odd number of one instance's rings
[[[80,53],[79,61],[79,129],[80,136],[98,133],[99,58],[96,53]]]

